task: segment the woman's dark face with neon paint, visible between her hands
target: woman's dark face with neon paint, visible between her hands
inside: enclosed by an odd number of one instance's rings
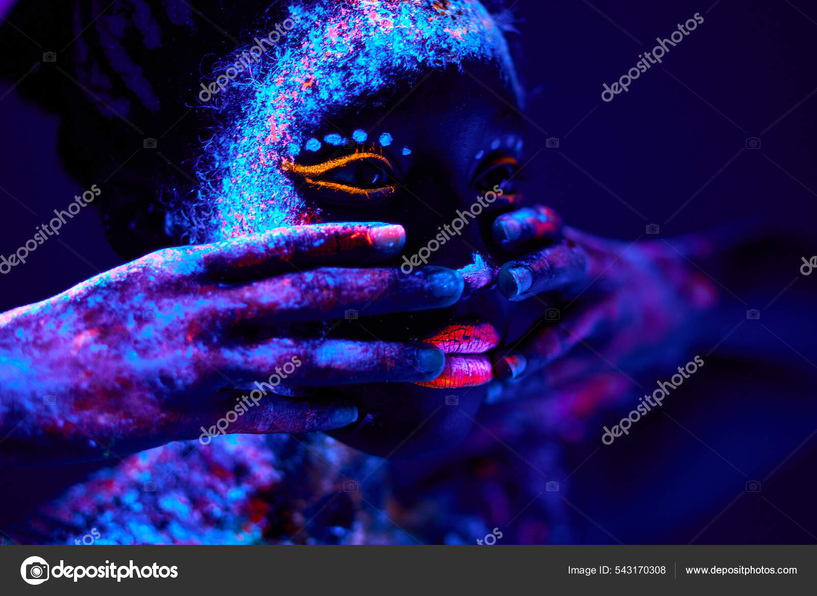
[[[291,35],[308,34],[244,93],[236,128],[215,145],[226,174],[211,237],[304,222],[400,223],[405,248],[383,267],[407,271],[423,264],[419,255],[460,270],[467,289],[453,307],[372,317],[363,309],[331,331],[458,352],[439,379],[306,392],[358,406],[358,421],[333,432],[351,446],[394,457],[449,446],[484,400],[490,356],[542,315],[526,306],[511,320],[494,283],[507,255],[490,225],[521,201],[507,50],[476,2],[318,2],[293,15],[301,28]]]

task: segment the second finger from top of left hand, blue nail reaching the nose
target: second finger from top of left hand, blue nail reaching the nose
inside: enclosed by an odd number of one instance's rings
[[[342,269],[321,267],[224,289],[217,301],[203,303],[209,315],[230,324],[243,321],[292,322],[448,307],[462,295],[465,282],[444,267]]]

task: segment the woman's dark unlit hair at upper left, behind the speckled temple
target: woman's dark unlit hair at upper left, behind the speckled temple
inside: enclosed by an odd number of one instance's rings
[[[0,75],[60,114],[60,157],[81,185],[105,185],[99,207],[120,256],[201,239],[196,226],[212,205],[199,194],[212,181],[200,177],[200,153],[220,114],[191,89],[212,80],[239,39],[287,13],[285,0],[262,9],[225,0],[21,2],[2,24],[9,60]]]

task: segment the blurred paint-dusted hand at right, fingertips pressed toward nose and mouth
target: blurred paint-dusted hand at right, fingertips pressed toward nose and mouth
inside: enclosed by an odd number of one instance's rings
[[[694,333],[694,311],[717,299],[713,285],[688,258],[707,252],[701,240],[607,240],[561,226],[556,213],[540,206],[498,217],[493,233],[507,250],[550,243],[502,266],[503,295],[522,301],[552,292],[561,300],[560,308],[547,311],[540,325],[501,355],[506,378],[547,365],[553,388],[600,370],[618,370],[625,361],[632,370],[665,359],[683,345],[680,334]],[[569,356],[578,344],[589,352]]]

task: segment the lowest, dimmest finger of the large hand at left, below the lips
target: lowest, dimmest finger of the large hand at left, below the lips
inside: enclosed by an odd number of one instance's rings
[[[212,437],[247,432],[320,432],[354,423],[358,410],[349,401],[304,401],[261,391],[230,392],[225,410],[216,410],[198,431],[199,441],[208,445]]]

